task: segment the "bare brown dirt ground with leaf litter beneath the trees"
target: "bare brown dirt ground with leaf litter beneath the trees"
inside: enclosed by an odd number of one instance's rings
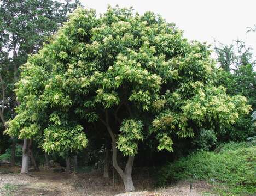
[[[154,181],[147,177],[146,172],[135,175],[133,181],[138,192],[123,193],[123,185],[117,176],[114,176],[114,180],[113,176],[110,179],[103,179],[100,170],[69,174],[41,169],[40,172],[21,175],[16,168],[14,173],[0,173],[0,196],[199,196],[211,189],[211,185],[205,182],[195,182],[191,192],[188,182],[156,189],[153,187]]]

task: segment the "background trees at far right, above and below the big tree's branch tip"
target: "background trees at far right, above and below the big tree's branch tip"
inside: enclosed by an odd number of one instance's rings
[[[230,95],[247,97],[252,111],[240,118],[236,124],[224,128],[219,140],[245,140],[255,135],[252,114],[256,105],[256,72],[251,48],[241,40],[231,45],[216,45],[218,62],[223,70],[217,70],[217,84],[223,85]]]

